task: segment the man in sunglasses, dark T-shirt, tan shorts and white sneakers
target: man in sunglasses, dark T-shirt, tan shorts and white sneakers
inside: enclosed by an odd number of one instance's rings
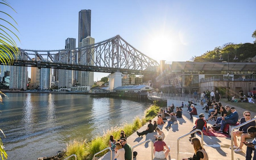
[[[244,117],[240,119],[240,124],[243,124],[247,121],[250,121],[252,118],[250,117],[251,113],[249,111],[244,112]],[[241,127],[238,128],[238,131],[233,132],[233,141],[234,141],[234,146],[233,148],[235,149],[234,152],[243,152],[242,147],[244,146],[243,141],[245,141],[246,138],[251,138],[251,136],[247,133],[247,129],[250,126],[256,126],[255,121],[252,121],[251,123],[245,124]],[[238,147],[237,142],[236,142],[236,136],[241,137],[241,142]],[[229,147],[231,149],[231,147]]]

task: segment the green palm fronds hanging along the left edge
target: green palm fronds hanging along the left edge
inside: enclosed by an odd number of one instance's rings
[[[16,12],[11,6],[10,4],[8,4],[5,0],[1,0],[0,4],[2,5],[2,7],[8,7],[11,8],[14,12]],[[17,13],[17,12],[16,12]],[[17,44],[15,43],[15,41],[13,40],[12,36],[15,36],[19,41],[19,37],[9,28],[12,28],[16,31],[19,32],[19,30],[8,20],[6,19],[10,19],[14,21],[14,23],[16,25],[17,22],[12,18],[12,16],[10,16],[8,13],[0,11],[1,14],[1,25],[0,25],[0,61],[2,62],[2,64],[5,65],[11,65],[14,61],[14,57],[17,57],[18,54],[20,54],[20,51],[17,47]],[[5,26],[7,25],[7,26]],[[4,95],[6,97],[6,95],[4,93],[2,93],[0,91],[0,102],[2,102],[2,95]],[[4,134],[4,132],[0,129],[0,131]],[[4,135],[5,137],[5,135]],[[2,139],[0,138],[0,154],[1,154],[1,158],[3,159],[7,159],[7,154],[4,150],[4,146],[2,143]]]

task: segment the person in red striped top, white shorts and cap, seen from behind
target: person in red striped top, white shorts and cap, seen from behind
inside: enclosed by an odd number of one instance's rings
[[[170,152],[170,149],[167,147],[165,142],[163,141],[162,136],[157,137],[157,141],[154,142],[154,156],[158,159],[165,159]]]

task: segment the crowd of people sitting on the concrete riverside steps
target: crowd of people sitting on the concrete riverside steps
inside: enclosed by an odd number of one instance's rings
[[[208,97],[207,92],[204,93],[203,97]],[[212,91],[213,92],[213,91]],[[244,112],[244,116],[239,119],[238,113],[236,111],[236,108],[234,107],[229,107],[228,105],[223,107],[221,102],[218,102],[219,99],[221,98],[220,94],[217,94],[216,98],[216,92],[214,95],[213,93],[209,93],[209,99],[203,103],[202,106],[205,109],[205,112],[208,114],[208,118],[205,118],[205,115],[203,113],[199,114],[198,119],[195,121],[195,125],[193,126],[192,131],[195,131],[196,129],[199,129],[201,131],[205,130],[206,132],[209,132],[210,128],[213,130],[217,130],[218,133],[223,133],[224,128],[226,127],[227,124],[229,125],[237,125],[238,122],[239,124],[243,124],[249,120],[251,120],[251,113],[249,111]],[[212,93],[212,94],[211,94]],[[219,98],[218,98],[219,96]],[[202,101],[201,101],[202,102]],[[204,106],[205,105],[205,106]],[[167,124],[165,126],[165,129],[169,131],[170,127],[172,127],[173,124],[177,124],[177,118],[183,118],[182,112],[184,107],[187,106],[188,109],[187,111],[189,112],[190,119],[193,119],[193,115],[197,115],[197,109],[196,104],[193,102],[193,100],[188,101],[188,104],[185,104],[182,102],[180,107],[174,107],[174,104],[171,106],[168,106],[168,108],[163,108],[158,112],[157,115],[157,120],[153,121],[152,120],[148,121],[148,127],[145,131],[142,132],[137,132],[137,135],[143,136],[148,133],[156,132],[157,134],[153,135],[156,141],[154,142],[154,149],[153,153],[156,158],[159,159],[165,159],[168,154],[170,153],[170,147],[166,145],[164,142],[165,139],[165,134],[164,132],[160,129],[159,125]],[[174,112],[174,110],[176,112]],[[164,122],[164,120],[166,120]],[[215,121],[215,124],[213,124],[211,127],[207,126],[208,121]],[[234,152],[242,152],[242,147],[245,145],[247,146],[246,150],[246,160],[249,160],[252,158],[252,152],[255,152],[255,146],[256,146],[256,123],[255,121],[252,121],[251,123],[245,124],[237,131],[233,132],[233,141],[234,141]],[[212,131],[211,131],[212,132]],[[152,136],[152,137],[153,137]],[[240,144],[237,144],[236,137],[241,137]],[[254,138],[252,142],[247,142],[245,141],[246,138]],[[191,144],[193,145],[194,148],[194,155],[193,157],[189,158],[183,158],[184,160],[208,160],[209,157],[207,155],[207,152],[201,146],[201,142],[199,139],[195,138],[195,133],[192,133],[189,137],[189,141],[191,141]],[[120,133],[120,139],[115,140],[114,137],[111,135],[109,139],[109,147],[115,151],[115,160],[130,160],[132,159],[132,149],[131,146],[127,143],[127,138],[122,131]],[[232,147],[230,147],[232,148]],[[256,159],[256,153],[253,156],[253,159]]]

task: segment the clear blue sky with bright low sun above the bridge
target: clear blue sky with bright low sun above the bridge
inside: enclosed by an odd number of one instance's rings
[[[18,23],[22,49],[64,49],[78,42],[78,12],[92,10],[95,43],[120,35],[157,60],[187,61],[232,42],[252,43],[256,30],[255,0],[8,0]],[[3,9],[2,9],[3,8]],[[78,44],[76,44],[76,47]],[[28,73],[30,76],[31,73]],[[94,73],[94,80],[107,76]]]

